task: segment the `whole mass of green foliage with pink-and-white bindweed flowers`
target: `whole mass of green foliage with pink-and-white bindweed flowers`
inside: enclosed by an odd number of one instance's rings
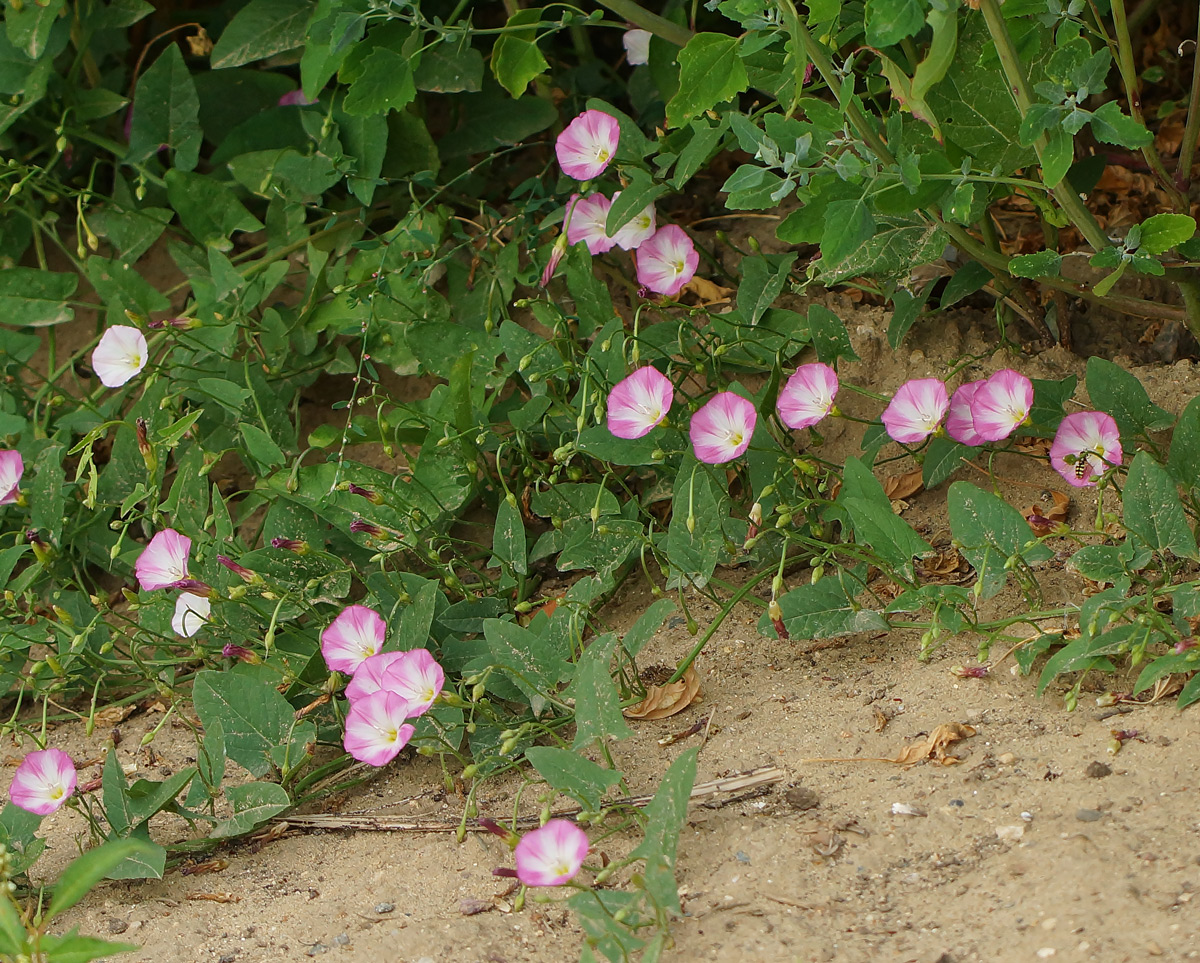
[[[1139,76],[1121,0],[512,7],[6,8],[0,695],[28,754],[0,953],[115,952],[46,927],[410,750],[461,786],[460,838],[482,818],[533,898],[566,887],[583,959],[658,958],[696,752],[642,809],[610,746],[676,611],[698,638],[672,682],[745,603],[784,640],[908,629],[929,657],[971,633],[1040,689],[1070,674],[1069,707],[1118,665],[1200,699],[1198,402],[1175,418],[1099,358],[1086,407],[1019,361],[965,381],[972,358],[884,397],[846,377],[847,318],[794,297],[890,305],[892,347],[980,291],[1002,333],[1068,340],[1056,293],[1200,333],[1184,54],[1163,60],[1187,108],[1151,118],[1166,67]],[[1180,112],[1172,158],[1151,126]],[[1153,187],[1109,237],[1092,187],[1133,151]],[[997,229],[1014,204],[1025,246]],[[758,210],[774,238],[697,229]],[[931,262],[944,287],[916,280]],[[846,391],[876,407],[834,459]],[[910,456],[952,483],[965,584],[876,475]],[[1096,515],[1022,515],[1001,457],[1094,489]],[[1082,604],[1044,602],[1056,555]],[[631,575],[656,599],[619,634]],[[1025,605],[997,616],[1006,586]],[[146,700],[144,744],[169,720],[194,765],[131,784],[110,750],[80,780],[52,744]],[[534,788],[522,837],[478,809],[503,774]],[[28,871],[62,806],[95,848],[46,893]]]

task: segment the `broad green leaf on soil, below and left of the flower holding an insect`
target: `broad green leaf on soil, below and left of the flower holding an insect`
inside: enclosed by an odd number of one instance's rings
[[[1010,557],[1020,556],[1032,564],[1054,555],[1042,544],[1026,549],[1033,533],[1021,513],[967,482],[950,485],[949,515],[954,540],[979,578],[980,598],[991,598],[1004,587],[1008,579],[1004,563]]]

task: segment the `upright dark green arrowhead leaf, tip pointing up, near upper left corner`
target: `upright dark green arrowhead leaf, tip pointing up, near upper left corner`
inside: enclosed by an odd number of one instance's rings
[[[174,151],[176,168],[192,171],[196,167],[203,139],[200,98],[178,43],[169,43],[138,78],[131,109],[133,121],[126,163],[140,163],[166,144]]]

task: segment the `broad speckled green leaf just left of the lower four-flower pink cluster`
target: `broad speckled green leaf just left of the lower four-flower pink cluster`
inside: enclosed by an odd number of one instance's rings
[[[196,676],[192,699],[205,728],[221,723],[230,760],[251,776],[270,772],[271,748],[287,742],[295,722],[274,686],[250,674],[204,670]]]

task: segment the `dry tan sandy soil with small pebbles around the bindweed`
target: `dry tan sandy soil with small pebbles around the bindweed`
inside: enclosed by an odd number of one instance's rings
[[[968,355],[985,358],[978,373],[966,372],[971,377],[1010,365],[1036,377],[1082,373],[1079,358],[1057,349],[985,357],[994,334],[985,337],[966,321],[961,329],[948,325],[949,334],[938,325],[936,337],[918,333],[895,354],[881,340],[884,329],[882,315],[859,311],[851,330],[863,361],[848,366],[847,379],[890,390],[907,377],[944,373]],[[1138,373],[1172,411],[1200,389],[1188,363]],[[877,414],[868,402],[858,407]],[[832,456],[852,454],[856,445],[848,429],[828,432]],[[889,469],[906,467],[898,462]],[[1049,468],[1015,457],[1000,459],[996,472],[1010,479],[1001,491],[1021,508],[1043,486],[1066,488]],[[974,480],[986,484],[982,475]],[[917,496],[906,518],[925,532],[944,531],[944,486]],[[1094,503],[1084,494],[1075,510],[1092,512]],[[1044,587],[1048,605],[1081,599],[1082,585],[1062,570],[1048,570]],[[607,618],[628,626],[649,600],[646,586],[630,584]],[[996,611],[1022,604],[1015,593],[990,603]],[[710,641],[698,663],[702,704],[671,719],[637,723],[635,736],[614,747],[632,791],[653,791],[671,759],[702,737],[670,747],[658,740],[713,713],[700,780],[766,764],[787,772],[785,783],[761,795],[692,808],[679,850],[685,915],[666,959],[1200,957],[1200,922],[1189,907],[1200,886],[1194,710],[1180,713],[1170,701],[1122,707],[1118,714],[1098,710],[1096,695],[1105,686],[1128,687],[1128,678],[1118,677],[1097,678],[1098,688],[1085,687],[1079,710],[1067,713],[1061,687],[1038,699],[1036,677],[1010,672],[1012,659],[988,678],[953,676],[952,666],[974,662],[978,639],[952,639],[922,664],[913,633],[835,645],[781,642],[757,635],[760,611],[743,606]],[[716,609],[697,604],[694,612],[704,628]],[[691,644],[683,620],[671,620],[643,659],[673,663]],[[880,718],[888,719],[882,730]],[[192,743],[178,731],[164,729],[152,761],[138,748],[158,720],[143,713],[121,723],[116,752],[140,773],[188,762]],[[894,755],[949,722],[977,730],[955,747],[956,765],[906,768],[869,759]],[[1116,755],[1108,752],[1114,728],[1139,732]],[[97,730],[89,741],[82,728],[68,725],[55,744],[96,760],[107,737]],[[846,761],[810,761],[828,758]],[[82,778],[94,773],[98,766]],[[515,780],[493,783],[481,811],[511,812],[516,789]],[[919,814],[896,814],[896,803]],[[342,801],[342,813],[356,811],[454,819],[461,800],[443,794],[436,762],[402,756],[367,790]],[[53,878],[82,829],[67,813],[48,819],[50,851],[36,872]],[[510,865],[510,856],[487,835],[457,844],[448,835],[288,831],[218,855],[226,865],[217,872],[103,884],[64,925],[140,944],[122,957],[130,963],[324,955],[388,963],[558,963],[578,953],[581,933],[562,907],[530,902],[523,913],[510,911],[506,880],[491,875]],[[487,911],[467,915],[480,909]]]

